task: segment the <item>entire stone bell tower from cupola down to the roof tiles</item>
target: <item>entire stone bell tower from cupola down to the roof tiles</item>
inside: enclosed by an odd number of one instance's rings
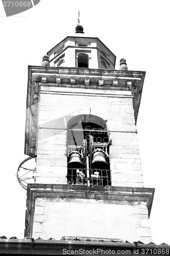
[[[151,242],[154,189],[143,186],[136,130],[145,72],[115,60],[78,24],[29,66],[26,237]]]

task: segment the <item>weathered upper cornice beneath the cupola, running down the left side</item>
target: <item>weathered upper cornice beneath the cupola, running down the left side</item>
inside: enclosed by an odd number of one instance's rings
[[[104,90],[106,92],[105,97],[107,95],[108,97],[132,97],[135,121],[137,121],[144,76],[145,72],[142,71],[29,66],[25,154],[29,156],[36,154],[35,150],[33,153],[31,150],[36,148],[36,103],[39,101],[40,86],[43,85],[43,88],[53,87],[54,92],[56,91],[55,88],[83,88],[87,89],[87,92],[89,92],[88,89],[95,89],[96,95]],[[107,90],[116,93],[109,96]],[[84,94],[87,95],[88,93],[84,92]]]

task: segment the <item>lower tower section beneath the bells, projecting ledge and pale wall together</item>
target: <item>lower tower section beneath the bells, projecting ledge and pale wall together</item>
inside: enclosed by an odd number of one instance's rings
[[[29,187],[26,236],[151,242],[153,189],[53,184]]]

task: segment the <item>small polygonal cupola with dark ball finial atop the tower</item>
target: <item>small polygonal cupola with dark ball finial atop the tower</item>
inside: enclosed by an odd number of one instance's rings
[[[116,56],[99,38],[84,36],[82,26],[76,33],[79,36],[67,36],[47,52],[50,67],[115,69]]]

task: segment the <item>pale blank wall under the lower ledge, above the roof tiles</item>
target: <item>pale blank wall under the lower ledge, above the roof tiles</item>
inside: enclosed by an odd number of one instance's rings
[[[101,237],[151,242],[146,202],[37,198],[33,237]]]

